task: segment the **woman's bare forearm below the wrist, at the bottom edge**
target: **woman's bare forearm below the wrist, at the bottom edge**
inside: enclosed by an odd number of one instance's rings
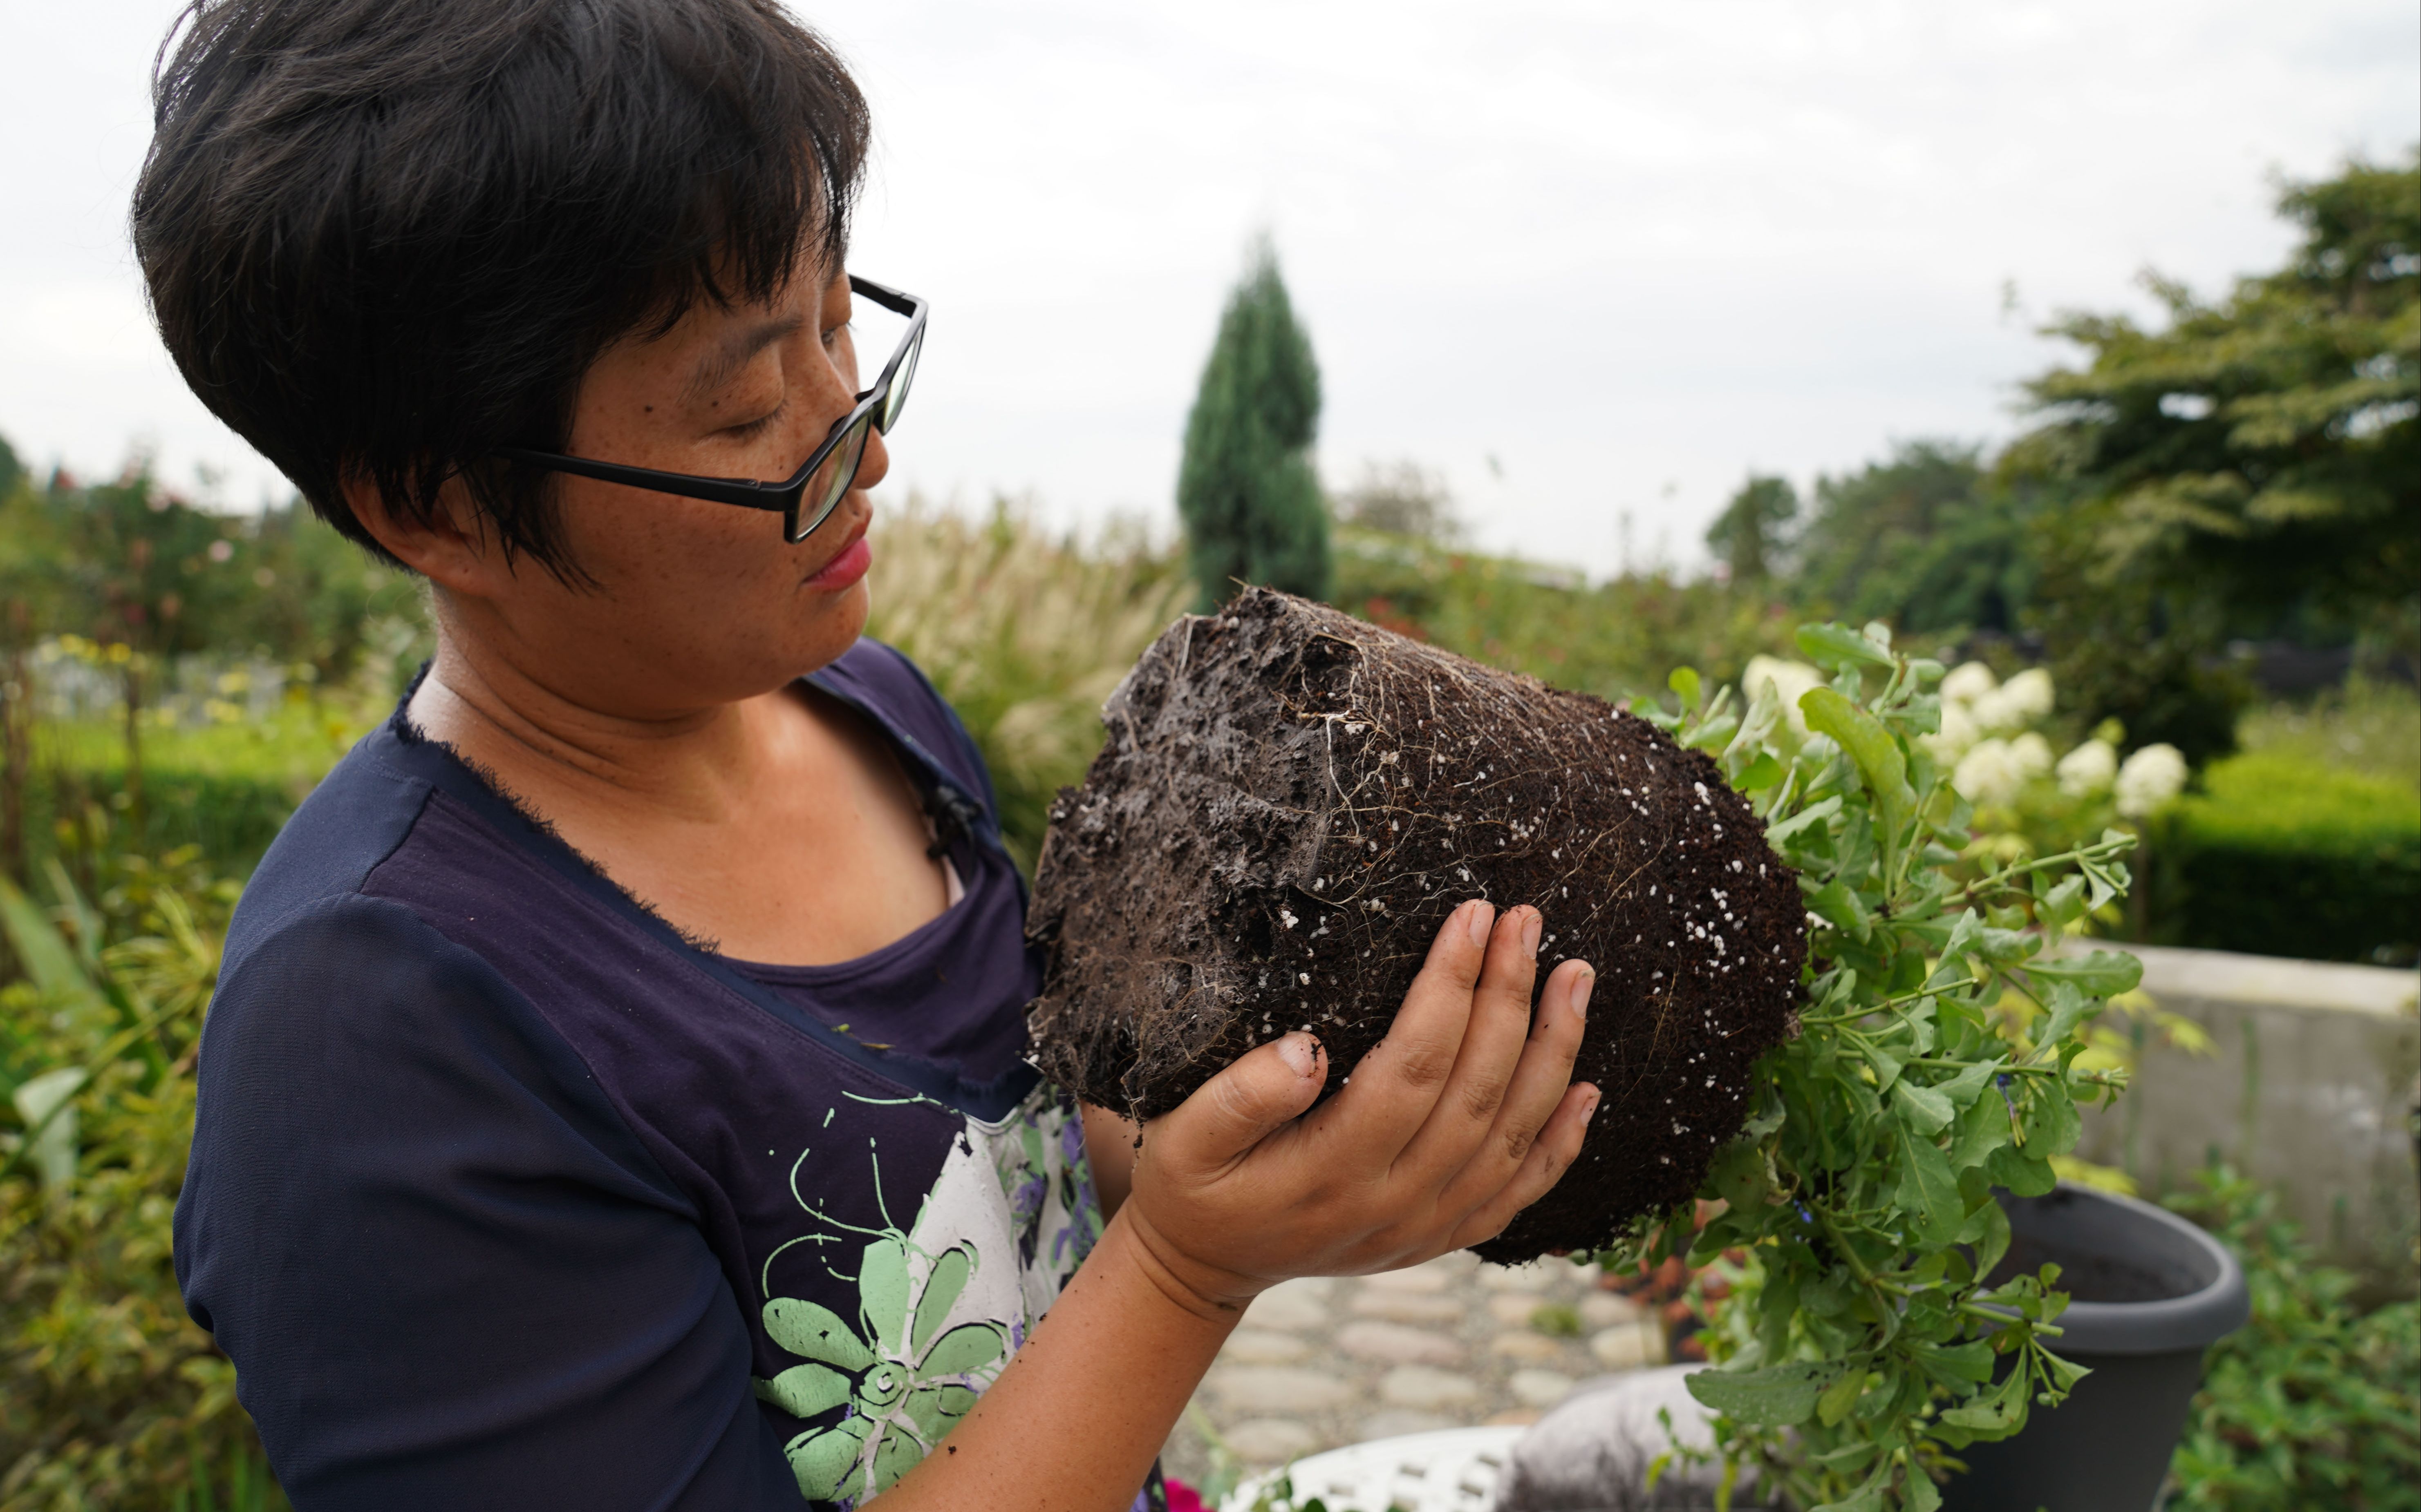
[[[1043,1321],[886,1512],[1126,1512],[1240,1309],[1203,1304],[1111,1219]]]

